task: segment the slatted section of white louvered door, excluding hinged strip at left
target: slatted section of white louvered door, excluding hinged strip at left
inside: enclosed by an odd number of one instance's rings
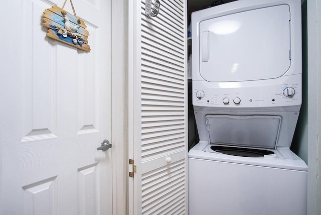
[[[162,0],[149,18],[141,1],[142,214],[186,213],[184,4]]]

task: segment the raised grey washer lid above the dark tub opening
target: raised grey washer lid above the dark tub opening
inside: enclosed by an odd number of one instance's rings
[[[205,118],[211,144],[276,148],[280,116],[207,115]]]

